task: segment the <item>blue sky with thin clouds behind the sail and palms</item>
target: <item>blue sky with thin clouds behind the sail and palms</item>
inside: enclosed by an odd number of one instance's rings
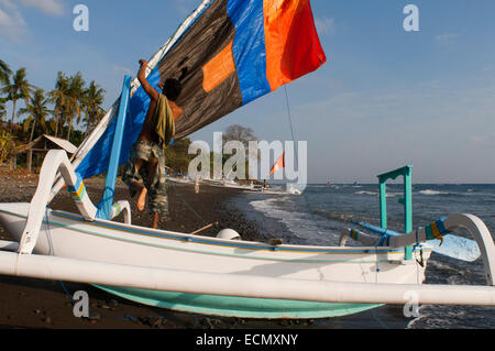
[[[89,31],[73,28],[89,9]],[[120,94],[200,0],[0,0],[0,58],[51,90],[81,72]],[[419,31],[406,32],[407,4]],[[495,183],[495,1],[312,0],[327,63],[190,135],[241,124],[258,140],[307,141],[309,183]],[[10,108],[10,106],[8,106]],[[10,116],[10,114],[9,114]]]

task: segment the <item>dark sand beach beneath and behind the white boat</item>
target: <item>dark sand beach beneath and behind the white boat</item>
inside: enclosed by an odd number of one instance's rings
[[[103,178],[86,182],[90,197],[101,196]],[[30,201],[37,185],[34,175],[16,172],[0,174],[1,202]],[[193,185],[169,183],[168,221],[158,227],[180,232],[193,232],[208,223],[218,221],[219,229],[232,228],[244,240],[268,242],[271,238],[261,234],[256,223],[232,208],[227,200],[240,196],[240,190],[200,186],[195,194]],[[129,199],[127,187],[121,183],[116,188],[116,200]],[[54,209],[77,211],[68,193],[62,190],[51,204]],[[140,212],[131,201],[135,224],[148,226],[151,218],[146,210]],[[202,235],[216,235],[219,229],[210,228]],[[9,240],[0,229],[0,240]],[[69,294],[86,290],[90,300],[90,317],[76,318]],[[33,278],[0,276],[0,327],[1,328],[50,328],[50,329],[278,329],[278,328],[394,328],[404,329],[408,319],[402,317],[402,306],[386,306],[352,316],[316,320],[250,320],[174,312],[152,308],[107,294],[86,284],[62,283]]]

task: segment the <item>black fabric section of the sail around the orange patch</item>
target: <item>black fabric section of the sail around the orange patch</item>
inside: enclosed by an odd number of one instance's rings
[[[183,109],[176,121],[175,140],[242,106],[239,79],[232,72],[211,91],[205,91],[204,69],[235,36],[227,14],[227,0],[215,1],[174,48],[160,62],[162,81],[179,79],[183,92],[176,103]]]

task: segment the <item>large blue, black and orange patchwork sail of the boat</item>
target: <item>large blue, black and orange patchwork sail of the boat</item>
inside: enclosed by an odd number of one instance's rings
[[[184,111],[176,121],[178,140],[324,62],[309,0],[212,0],[189,17],[147,80],[155,87],[166,78],[183,84],[176,101]],[[138,88],[130,101],[120,164],[129,157],[148,105],[150,98]],[[107,124],[78,163],[82,178],[108,167],[114,121]]]

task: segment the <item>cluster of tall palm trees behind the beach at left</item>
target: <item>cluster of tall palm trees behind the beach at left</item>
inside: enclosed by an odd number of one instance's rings
[[[72,76],[58,72],[54,89],[45,91],[28,80],[26,68],[12,72],[0,59],[0,121],[14,136],[28,133],[28,142],[46,133],[78,144],[80,138],[72,138],[74,125],[81,125],[84,139],[98,124],[105,116],[101,107],[105,92],[95,80],[86,85],[80,72]],[[20,101],[24,102],[22,108]],[[6,125],[8,102],[12,111],[10,123]],[[20,117],[25,119],[16,124],[15,119]]]

